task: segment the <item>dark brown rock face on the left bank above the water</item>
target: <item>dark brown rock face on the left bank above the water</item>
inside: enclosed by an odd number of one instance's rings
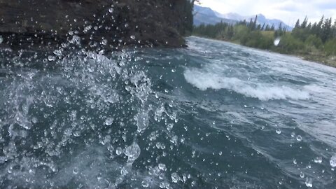
[[[1,45],[45,48],[64,41],[181,47],[186,0],[0,0]],[[51,44],[51,45],[50,45]]]

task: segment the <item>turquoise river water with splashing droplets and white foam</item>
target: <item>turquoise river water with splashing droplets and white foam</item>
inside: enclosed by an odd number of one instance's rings
[[[0,188],[336,188],[336,69],[188,46],[3,50]]]

